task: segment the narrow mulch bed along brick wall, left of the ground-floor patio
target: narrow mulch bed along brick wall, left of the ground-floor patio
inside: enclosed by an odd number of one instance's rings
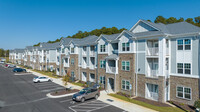
[[[149,100],[149,99],[145,99],[145,98],[142,98],[142,97],[136,97],[136,98],[133,98],[133,99],[139,100],[139,101],[142,101],[142,102],[145,102],[145,103],[154,105],[154,106],[159,106],[159,107],[171,107],[170,105],[168,105],[168,104],[166,104],[166,103],[161,103],[161,102]]]

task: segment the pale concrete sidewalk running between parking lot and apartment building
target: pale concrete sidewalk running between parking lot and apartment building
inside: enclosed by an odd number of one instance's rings
[[[34,75],[37,75],[37,76],[46,76],[46,75],[34,72],[32,70],[27,70],[27,71],[32,72]],[[83,89],[83,87],[80,87],[71,83],[68,83],[68,85],[65,86],[62,82],[62,78],[52,78],[52,79],[54,83],[59,84],[64,87],[72,87],[73,89],[79,89],[79,90]],[[155,110],[109,96],[106,91],[101,91],[100,97],[98,98],[98,100],[108,103],[110,105],[116,106],[118,108],[121,108],[128,112],[157,112]]]

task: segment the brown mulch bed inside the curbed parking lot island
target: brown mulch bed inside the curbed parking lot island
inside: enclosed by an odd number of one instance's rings
[[[75,93],[78,92],[78,89],[71,89],[71,90],[60,90],[56,92],[50,93],[52,96],[59,96],[59,95],[65,95],[65,94],[70,94],[70,93]]]

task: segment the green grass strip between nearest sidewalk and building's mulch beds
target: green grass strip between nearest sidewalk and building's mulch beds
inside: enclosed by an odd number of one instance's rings
[[[177,107],[159,107],[159,106],[154,106],[154,105],[151,105],[151,104],[148,104],[148,103],[145,103],[145,102],[130,99],[130,98],[127,98],[125,96],[121,96],[121,95],[117,95],[117,94],[109,94],[109,95],[112,96],[112,97],[124,100],[124,101],[128,101],[128,102],[131,102],[131,103],[143,106],[143,107],[150,108],[152,110],[159,111],[159,112],[184,112],[183,110],[181,110]]]

